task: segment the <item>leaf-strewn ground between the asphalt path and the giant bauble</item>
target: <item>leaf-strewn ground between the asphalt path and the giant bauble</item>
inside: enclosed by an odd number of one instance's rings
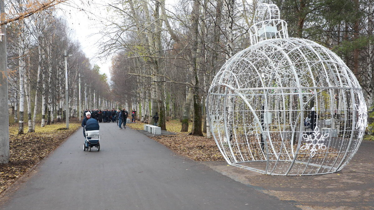
[[[126,125],[136,130],[144,129],[144,123],[141,122],[128,123]],[[189,130],[191,130],[191,126],[190,123]],[[166,121],[166,129],[176,133],[176,135],[151,138],[177,153],[196,161],[224,160],[213,138],[191,136],[188,135],[188,132],[180,132],[181,128],[179,120],[169,120]],[[206,134],[204,135],[206,136]]]

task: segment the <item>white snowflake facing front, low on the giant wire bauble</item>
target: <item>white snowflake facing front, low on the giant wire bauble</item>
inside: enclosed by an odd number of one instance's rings
[[[318,149],[326,150],[326,145],[323,141],[328,138],[329,134],[324,134],[323,136],[319,133],[319,128],[316,128],[313,131],[313,134],[307,135],[303,134],[303,138],[306,141],[306,144],[303,145],[300,150],[310,150],[310,156],[314,157]]]

